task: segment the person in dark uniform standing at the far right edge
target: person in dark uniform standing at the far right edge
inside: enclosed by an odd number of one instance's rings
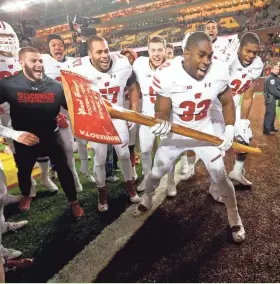
[[[270,75],[264,81],[265,115],[263,134],[274,135],[278,130],[274,127],[276,117],[276,100],[280,99],[279,65],[273,66]]]

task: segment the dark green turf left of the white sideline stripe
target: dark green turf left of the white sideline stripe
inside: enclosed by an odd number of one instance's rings
[[[76,166],[78,170],[79,160]],[[90,167],[92,169],[92,159]],[[137,172],[140,176],[141,166],[137,166]],[[22,251],[22,257],[35,259],[31,268],[7,273],[7,282],[46,282],[118,218],[131,203],[125,194],[122,175],[117,175],[119,182],[108,183],[110,210],[105,213],[97,210],[95,185],[80,175],[84,190],[78,193],[78,200],[85,210],[85,217],[78,221],[73,219],[58,181],[59,191],[52,194],[40,187],[37,179],[37,197],[28,212],[20,213],[17,204],[7,206],[5,216],[8,221],[28,220],[29,223],[18,232],[5,234],[3,245]],[[20,194],[18,187],[9,192]]]

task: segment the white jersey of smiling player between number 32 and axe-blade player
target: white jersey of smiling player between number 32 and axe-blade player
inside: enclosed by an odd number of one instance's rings
[[[154,116],[156,93],[152,88],[154,72],[150,67],[149,57],[139,57],[133,64],[137,82],[142,94],[142,113]]]

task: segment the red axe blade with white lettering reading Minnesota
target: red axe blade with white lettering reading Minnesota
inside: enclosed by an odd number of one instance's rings
[[[92,81],[61,70],[72,130],[75,136],[103,144],[121,144],[101,95],[92,89]]]

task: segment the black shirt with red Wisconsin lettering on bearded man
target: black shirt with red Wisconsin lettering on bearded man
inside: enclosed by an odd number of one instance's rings
[[[60,107],[66,108],[62,85],[44,77],[28,80],[23,72],[0,81],[0,104],[10,104],[12,127],[41,136],[57,128]]]

